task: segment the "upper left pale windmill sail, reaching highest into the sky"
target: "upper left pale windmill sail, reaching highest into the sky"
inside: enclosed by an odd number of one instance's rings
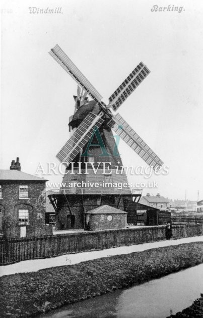
[[[49,54],[58,62],[58,64],[81,86],[86,92],[96,101],[100,101],[103,97],[88,81],[88,79],[81,73],[76,65],[67,57],[58,44],[54,46]]]

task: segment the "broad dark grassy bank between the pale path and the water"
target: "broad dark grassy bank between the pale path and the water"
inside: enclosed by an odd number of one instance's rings
[[[5,276],[0,279],[1,316],[27,317],[201,262],[203,242],[195,242]]]

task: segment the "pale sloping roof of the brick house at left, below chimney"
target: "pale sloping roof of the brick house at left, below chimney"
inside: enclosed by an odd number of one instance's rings
[[[47,181],[18,170],[0,170],[0,180]]]

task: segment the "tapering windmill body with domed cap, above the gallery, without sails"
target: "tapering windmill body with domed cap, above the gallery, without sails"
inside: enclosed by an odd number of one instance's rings
[[[78,126],[83,122],[87,115],[91,112],[99,113],[99,108],[96,106],[95,101],[90,101],[81,106],[81,108],[74,114],[71,122],[69,123],[71,130],[78,128]],[[99,144],[96,134],[93,135],[91,144],[88,147],[88,143],[84,145],[82,150],[76,155],[72,163],[74,165],[69,165],[66,168],[66,172],[63,177],[63,184],[66,187],[61,187],[60,193],[84,193],[84,194],[131,194],[129,187],[120,189],[120,187],[105,187],[105,183],[111,182],[115,184],[127,183],[127,178],[125,172],[122,169],[121,157],[118,153],[116,146],[114,134],[111,128],[107,125],[105,116],[102,117],[103,123],[98,128],[99,137],[102,138],[102,143],[105,149]],[[108,120],[107,120],[108,122]],[[84,155],[88,154],[88,155]],[[105,155],[108,154],[108,155]],[[116,154],[116,155],[115,155]],[[80,171],[79,173],[79,166]],[[74,175],[72,174],[72,167],[74,166]],[[95,169],[93,169],[93,167]],[[74,182],[73,182],[74,181]],[[82,182],[95,183],[98,182],[98,187],[73,187],[69,188],[67,185],[72,183]],[[104,185],[104,186],[103,186]]]

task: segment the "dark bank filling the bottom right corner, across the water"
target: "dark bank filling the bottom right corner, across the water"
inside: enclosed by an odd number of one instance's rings
[[[175,315],[172,314],[167,318],[202,318],[203,317],[203,297],[196,299],[190,307],[183,309],[181,312],[177,312]]]

